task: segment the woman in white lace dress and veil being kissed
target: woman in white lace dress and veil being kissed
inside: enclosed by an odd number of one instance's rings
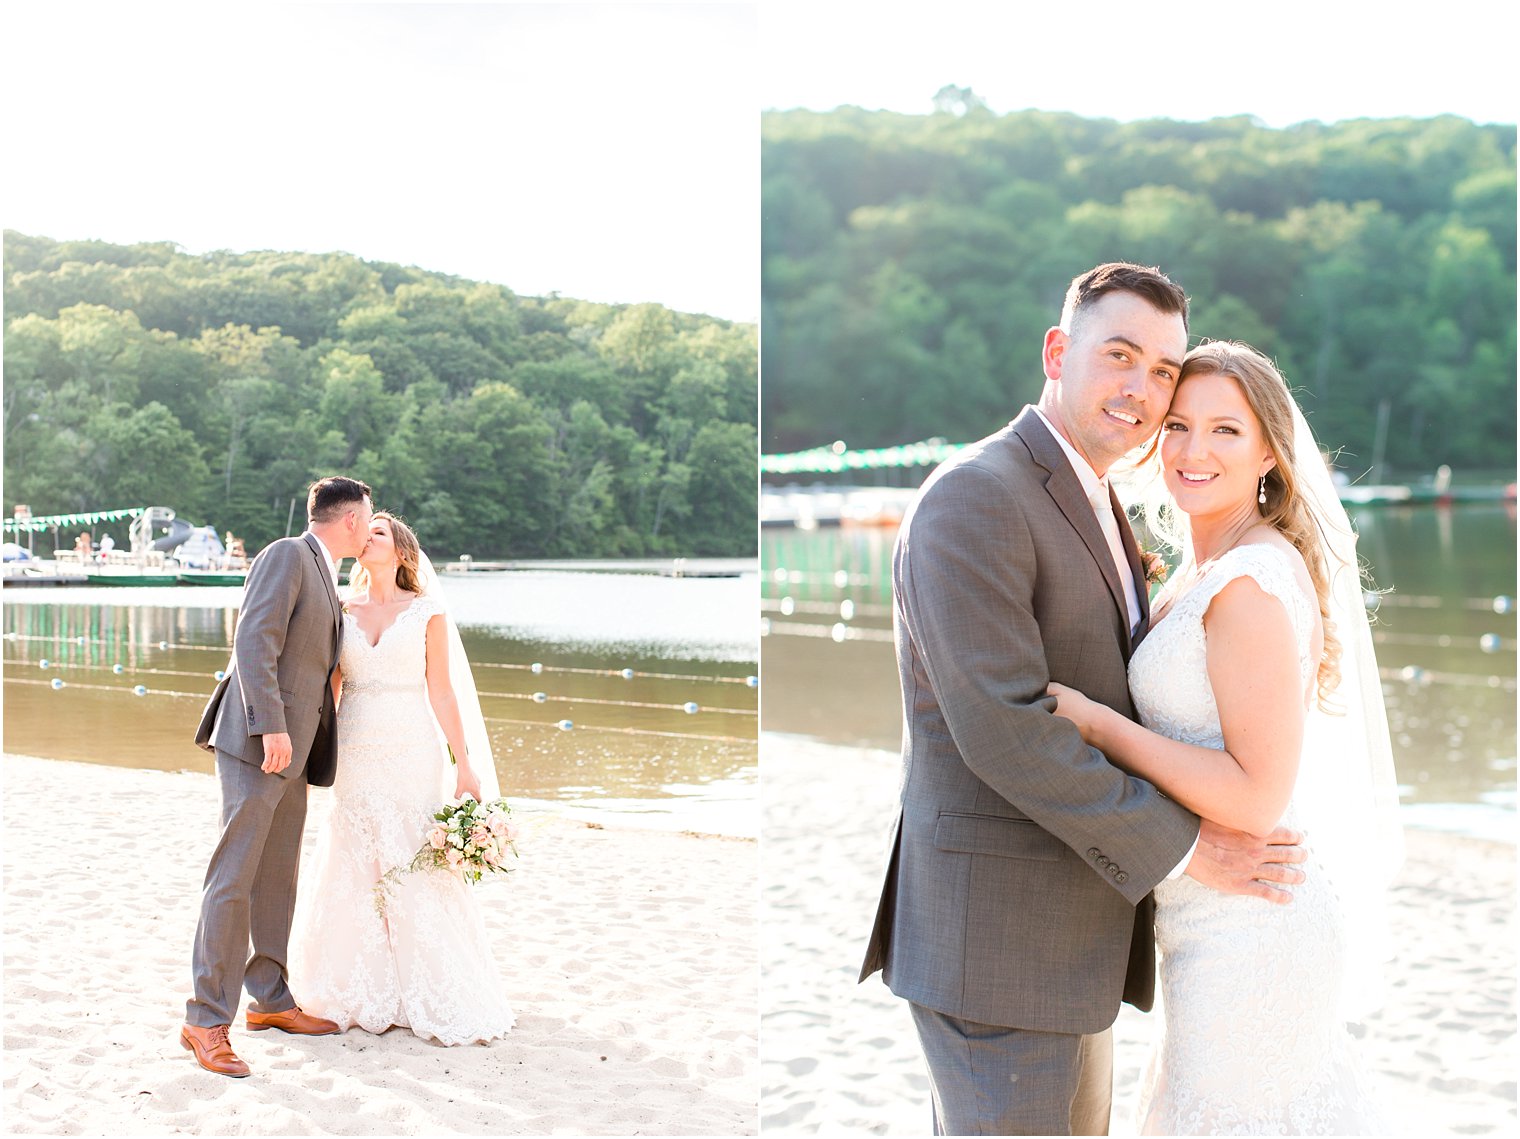
[[[404,1026],[444,1045],[506,1036],[512,1010],[470,887],[421,870],[400,876],[383,912],[375,902],[380,877],[410,864],[445,798],[497,795],[459,633],[416,535],[394,514],[374,516],[350,587],[333,674],[333,814],[296,909],[292,979],[307,1011],[342,1028]]]

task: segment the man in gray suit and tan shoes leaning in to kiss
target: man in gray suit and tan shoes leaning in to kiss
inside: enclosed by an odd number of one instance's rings
[[[195,742],[216,751],[222,836],[201,894],[193,973],[179,1043],[202,1068],[245,1077],[228,1028],[245,985],[249,1030],[336,1033],[302,1013],[286,984],[307,785],[331,786],[337,739],[328,678],[342,634],[337,563],[369,541],[369,488],[312,484],[307,531],[266,546],[248,569],[233,665]],[[252,957],[249,957],[249,940]]]

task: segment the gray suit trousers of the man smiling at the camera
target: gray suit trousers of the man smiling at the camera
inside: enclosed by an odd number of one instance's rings
[[[935,1134],[1108,1134],[1111,1028],[1037,1033],[909,1008],[929,1060]]]

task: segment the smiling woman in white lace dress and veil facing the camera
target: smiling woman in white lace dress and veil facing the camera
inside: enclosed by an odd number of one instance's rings
[[[1400,859],[1354,534],[1283,377],[1243,344],[1187,354],[1157,450],[1187,522],[1129,662],[1143,725],[1052,684],[1056,715],[1205,818],[1303,829],[1310,858],[1287,906],[1186,876],[1157,887],[1166,1031],[1138,1125],[1389,1134],[1345,1030],[1374,999]]]

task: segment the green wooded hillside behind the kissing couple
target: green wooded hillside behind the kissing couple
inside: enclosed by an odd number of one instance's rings
[[[6,511],[164,505],[252,549],[344,473],[435,552],[754,552],[754,325],[14,231],[5,312]]]

